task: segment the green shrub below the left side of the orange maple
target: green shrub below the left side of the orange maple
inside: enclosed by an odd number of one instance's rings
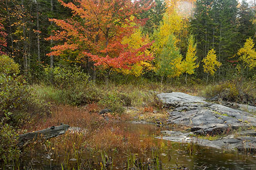
[[[81,67],[46,68],[45,75],[46,79],[52,79],[50,83],[57,89],[47,96],[58,103],[85,105],[99,102],[104,96],[103,91],[88,80],[89,76]]]

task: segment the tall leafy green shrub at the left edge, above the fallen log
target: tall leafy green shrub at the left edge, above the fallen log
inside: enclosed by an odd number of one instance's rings
[[[8,122],[21,125],[31,115],[49,113],[49,105],[31,94],[32,89],[22,77],[9,75],[17,74],[19,66],[12,59],[5,59],[13,68],[4,65],[0,72],[0,118],[13,113]]]

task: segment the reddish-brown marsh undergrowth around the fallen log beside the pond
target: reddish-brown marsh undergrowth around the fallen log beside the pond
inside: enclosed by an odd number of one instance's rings
[[[67,159],[76,158],[79,163],[82,154],[89,154],[89,157],[100,154],[102,151],[110,155],[117,153],[143,154],[151,150],[161,151],[166,149],[163,148],[167,147],[163,140],[155,141],[148,136],[143,137],[143,141],[140,141],[138,139],[145,132],[134,133],[127,131],[123,123],[116,123],[117,120],[123,121],[123,119],[126,119],[125,114],[121,115],[121,117],[110,113],[103,116],[98,114],[99,109],[100,106],[95,103],[84,107],[60,105],[53,110],[51,117],[45,117],[41,121],[35,120],[34,123],[24,125],[23,129],[28,131],[36,131],[60,123],[81,128],[78,131],[69,130],[57,138],[48,140],[38,138],[25,146],[24,153],[37,155],[40,152],[44,155],[52,155],[51,157],[69,155]],[[156,128],[154,126],[151,131],[157,136],[159,135],[159,130]],[[131,166],[133,165],[131,164]]]

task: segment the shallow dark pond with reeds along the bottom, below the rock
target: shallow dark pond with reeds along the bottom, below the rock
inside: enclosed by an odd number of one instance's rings
[[[157,150],[152,147],[143,153],[138,150],[130,153],[88,151],[81,153],[79,158],[69,155],[27,155],[20,162],[19,169],[256,169],[256,156],[252,154],[156,139],[154,137],[161,135],[160,131],[165,129],[155,124],[117,125],[125,131],[139,134],[137,140],[141,143],[151,138],[154,143],[161,143],[162,147]],[[1,169],[16,169],[16,166],[6,165]]]

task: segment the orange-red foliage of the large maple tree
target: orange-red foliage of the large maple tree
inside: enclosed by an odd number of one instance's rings
[[[151,43],[138,49],[121,44],[123,37],[134,32],[132,22],[145,23],[135,16],[150,9],[154,5],[152,1],[146,4],[141,0],[76,0],[75,4],[58,1],[71,9],[73,16],[66,20],[50,19],[61,30],[54,31],[54,35],[47,39],[63,41],[63,44],[52,47],[48,56],[78,51],[78,60],[89,57],[94,65],[110,69],[129,69],[140,61],[152,59],[151,55],[142,53]]]

